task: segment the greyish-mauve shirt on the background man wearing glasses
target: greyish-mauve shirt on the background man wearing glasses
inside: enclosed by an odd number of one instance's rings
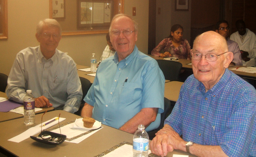
[[[234,62],[236,65],[243,65],[242,56],[238,44],[235,41],[230,40],[229,38],[227,40],[227,44],[228,51],[232,52],[234,55],[232,62]]]

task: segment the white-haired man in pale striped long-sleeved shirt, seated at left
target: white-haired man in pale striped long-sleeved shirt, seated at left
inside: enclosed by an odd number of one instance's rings
[[[32,90],[35,106],[76,112],[82,100],[82,87],[73,59],[57,50],[61,27],[55,19],[44,19],[36,27],[38,47],[21,50],[12,65],[6,94],[23,103],[26,90]]]

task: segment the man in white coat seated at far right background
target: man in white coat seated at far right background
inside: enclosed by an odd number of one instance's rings
[[[242,50],[243,65],[256,67],[256,35],[245,27],[243,20],[236,21],[236,29],[238,31],[231,34],[230,39]]]

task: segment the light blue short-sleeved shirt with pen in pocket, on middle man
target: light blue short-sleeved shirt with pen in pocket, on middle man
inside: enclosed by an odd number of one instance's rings
[[[156,60],[135,45],[122,61],[115,53],[101,62],[84,101],[93,106],[92,118],[116,129],[142,108],[158,108],[156,120],[146,128],[151,131],[158,128],[164,111],[164,81]]]

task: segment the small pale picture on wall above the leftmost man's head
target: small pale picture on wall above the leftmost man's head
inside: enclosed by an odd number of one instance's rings
[[[65,0],[52,0],[52,18],[65,19]]]

